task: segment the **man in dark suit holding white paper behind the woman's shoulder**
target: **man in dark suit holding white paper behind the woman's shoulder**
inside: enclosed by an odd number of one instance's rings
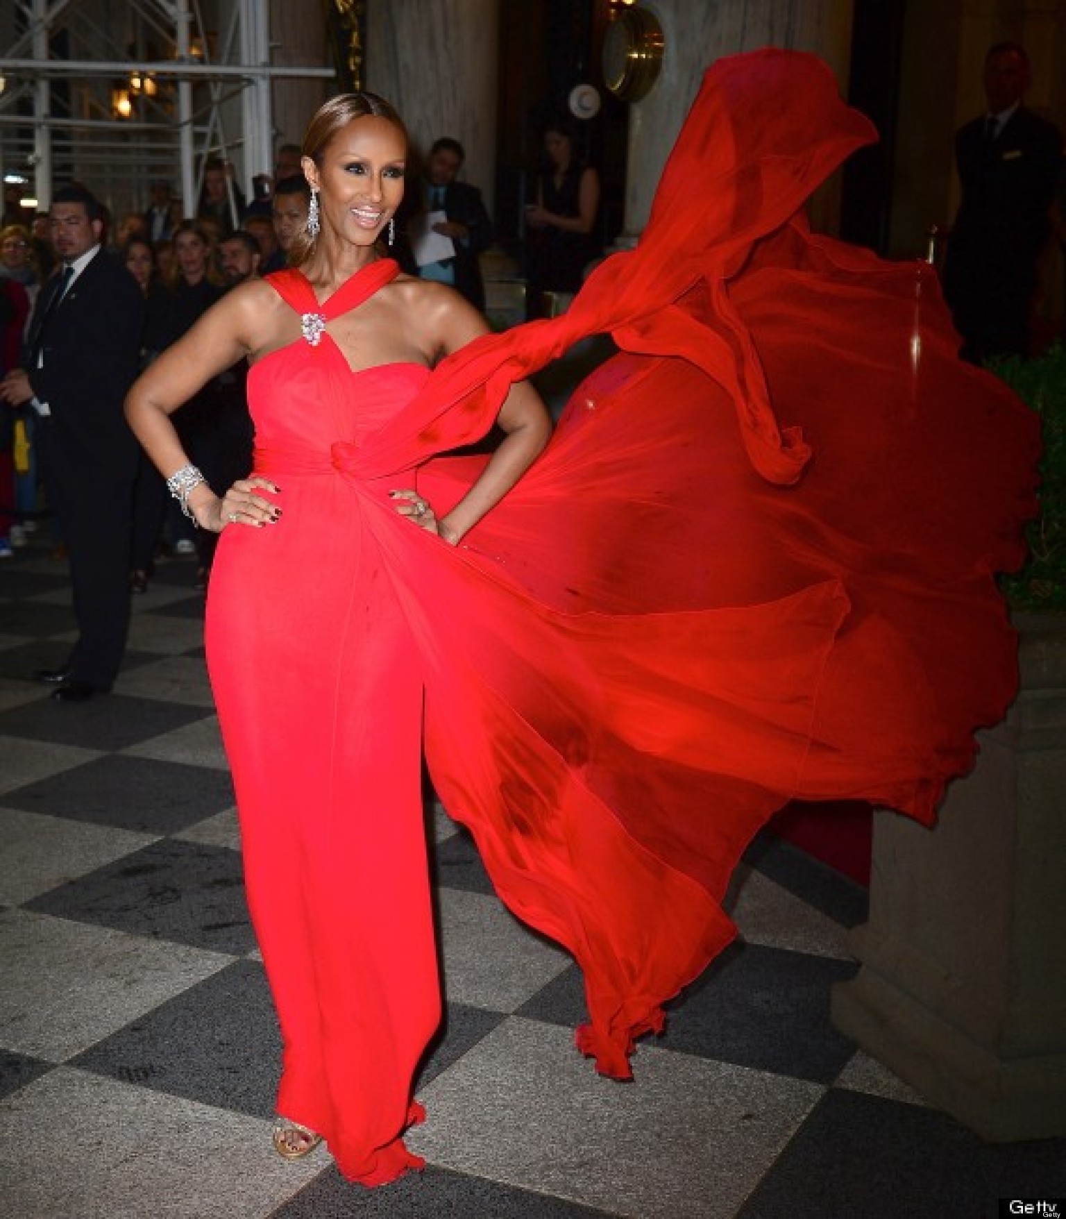
[[[469,183],[456,182],[464,160],[463,145],[448,137],[439,139],[429,150],[420,201],[426,213],[445,213],[432,229],[451,238],[454,255],[441,262],[419,266],[417,273],[423,279],[451,284],[475,308],[484,311],[485,285],[478,255],[492,244],[492,221],[485,210],[481,191]]]

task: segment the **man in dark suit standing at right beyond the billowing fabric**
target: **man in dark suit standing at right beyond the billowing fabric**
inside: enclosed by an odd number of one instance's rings
[[[962,184],[948,243],[944,295],[962,335],[962,356],[1029,354],[1029,313],[1050,207],[1062,163],[1054,123],[1022,104],[1029,61],[1016,43],[984,60],[988,113],[960,128],[955,162]]]

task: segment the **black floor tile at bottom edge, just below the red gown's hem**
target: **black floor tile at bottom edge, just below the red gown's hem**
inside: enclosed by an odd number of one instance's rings
[[[329,1168],[270,1219],[603,1219],[607,1214],[443,1168],[408,1173],[379,1190],[348,1185],[336,1168]]]

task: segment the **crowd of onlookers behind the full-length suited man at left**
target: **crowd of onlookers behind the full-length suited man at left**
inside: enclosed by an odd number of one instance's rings
[[[298,147],[284,145],[274,176],[244,206],[228,166],[210,161],[195,218],[182,218],[171,184],[156,180],[144,211],[111,217],[100,208],[100,240],[140,288],[143,322],[138,368],[144,369],[179,339],[219,296],[250,277],[285,266],[286,251],[307,219],[309,190]],[[91,206],[91,205],[90,205]],[[91,206],[91,210],[96,210]],[[95,234],[94,234],[95,236]],[[0,378],[33,356],[40,330],[34,306],[45,285],[56,286],[60,262],[54,217],[0,228]],[[66,293],[63,293],[66,295]],[[48,304],[48,302],[44,302]],[[221,375],[210,393],[188,403],[183,428],[206,466],[233,478],[251,463],[251,422],[244,403],[245,368]],[[39,528],[44,490],[56,557],[69,553],[68,524],[56,511],[48,474],[49,416],[29,401],[15,401],[11,383],[0,400],[0,560],[28,545]],[[196,553],[196,583],[206,588],[213,547],[173,510],[162,479],[143,457],[133,497],[133,541],[128,581],[146,591],[160,552]]]

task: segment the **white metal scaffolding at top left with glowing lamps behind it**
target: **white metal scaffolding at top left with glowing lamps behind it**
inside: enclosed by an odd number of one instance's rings
[[[155,178],[178,179],[195,216],[203,166],[230,161],[251,197],[270,172],[270,83],[333,78],[270,63],[268,0],[16,0],[0,23],[0,158],[38,208],[79,179],[116,211],[143,210]],[[10,27],[10,28],[9,28]]]

